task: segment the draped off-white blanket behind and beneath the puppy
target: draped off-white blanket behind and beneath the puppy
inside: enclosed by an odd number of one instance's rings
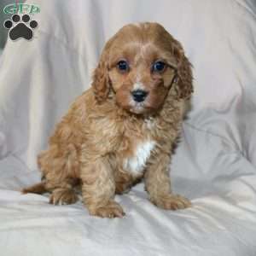
[[[0,255],[255,256],[255,0],[31,3],[41,9],[35,37],[9,41],[0,62]],[[171,172],[173,191],[193,207],[154,207],[143,184],[117,196],[122,219],[20,195],[38,182],[36,156],[90,86],[106,40],[144,20],[165,26],[194,66],[193,108]]]

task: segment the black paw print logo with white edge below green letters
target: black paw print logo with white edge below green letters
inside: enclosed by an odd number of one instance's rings
[[[29,15],[13,15],[11,20],[5,20],[3,26],[9,29],[9,38],[16,40],[24,38],[30,40],[33,37],[33,30],[38,27],[36,20],[30,20]]]

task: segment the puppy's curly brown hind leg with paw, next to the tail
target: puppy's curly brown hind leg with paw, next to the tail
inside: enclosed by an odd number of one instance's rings
[[[78,201],[75,187],[79,181],[79,163],[77,152],[73,144],[60,148],[51,145],[48,150],[38,155],[38,166],[43,172],[44,181],[41,186],[52,194],[49,203],[73,204]],[[40,186],[35,186],[40,190]],[[25,189],[33,192],[32,189]]]

